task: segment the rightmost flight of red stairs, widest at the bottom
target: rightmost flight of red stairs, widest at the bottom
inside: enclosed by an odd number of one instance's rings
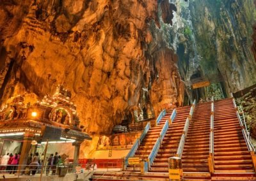
[[[215,101],[214,105],[214,176],[250,180],[255,177],[252,156],[232,99]]]

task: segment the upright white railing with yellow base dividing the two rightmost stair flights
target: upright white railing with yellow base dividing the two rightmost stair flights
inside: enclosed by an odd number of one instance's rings
[[[211,103],[211,118],[210,118],[210,143],[209,143],[209,157],[208,165],[210,173],[214,173],[214,98]]]

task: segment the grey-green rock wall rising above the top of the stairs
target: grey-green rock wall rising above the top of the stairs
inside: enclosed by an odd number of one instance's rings
[[[201,96],[222,92],[222,98],[256,82],[251,50],[256,15],[253,0],[171,2],[177,11],[170,42],[179,56],[184,80],[222,72],[228,81],[201,90]]]

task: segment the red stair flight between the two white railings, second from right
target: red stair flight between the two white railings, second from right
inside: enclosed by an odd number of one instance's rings
[[[182,154],[184,172],[209,173],[210,117],[211,102],[196,105]]]

